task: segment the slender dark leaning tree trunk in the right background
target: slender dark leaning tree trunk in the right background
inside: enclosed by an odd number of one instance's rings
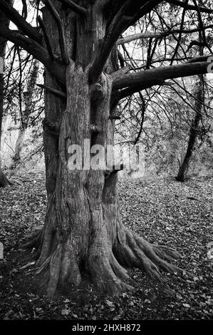
[[[189,142],[187,146],[187,152],[185,158],[180,165],[179,172],[177,174],[176,180],[183,182],[185,180],[185,175],[189,169],[189,163],[192,158],[192,152],[194,150],[194,145],[197,140],[197,135],[199,134],[199,122],[202,120],[202,106],[204,103],[204,85],[203,77],[199,76],[199,83],[197,86],[196,101],[194,104],[195,115],[194,120],[192,120],[192,125],[189,130]]]

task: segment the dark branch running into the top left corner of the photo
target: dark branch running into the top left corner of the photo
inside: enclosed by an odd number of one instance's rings
[[[26,36],[33,39],[37,43],[41,43],[42,36],[41,33],[38,33],[26,20],[4,0],[0,0],[1,11],[4,11],[4,14],[10,19],[21,31],[23,31]]]

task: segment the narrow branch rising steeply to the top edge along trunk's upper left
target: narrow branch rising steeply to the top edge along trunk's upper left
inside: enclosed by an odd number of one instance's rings
[[[51,15],[53,16],[53,19],[56,21],[56,24],[58,26],[58,36],[59,36],[59,45],[61,50],[61,56],[63,58],[64,63],[68,65],[70,63],[68,58],[68,53],[66,50],[66,41],[65,36],[63,33],[63,22],[61,21],[61,17],[58,14],[58,11],[56,11],[55,7],[49,0],[42,0],[43,3],[47,6],[48,10],[51,12]]]

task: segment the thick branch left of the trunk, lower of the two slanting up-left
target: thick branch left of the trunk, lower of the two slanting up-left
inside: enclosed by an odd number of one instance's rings
[[[24,50],[30,53],[34,58],[41,61],[41,63],[43,63],[43,65],[46,66],[46,68],[48,68],[48,70],[56,76],[61,83],[65,83],[65,66],[59,62],[52,61],[46,51],[46,48],[43,48],[40,44],[32,41],[31,38],[23,36],[20,33],[14,33],[5,26],[0,26],[0,36],[5,38],[7,41],[11,41],[16,44],[16,46],[24,48]]]

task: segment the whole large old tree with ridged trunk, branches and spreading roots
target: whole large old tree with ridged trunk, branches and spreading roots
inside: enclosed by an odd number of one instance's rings
[[[40,8],[41,1],[34,2]],[[211,14],[197,1],[43,0],[40,30],[0,0],[1,10],[17,30],[0,27],[0,36],[31,53],[45,66],[44,151],[48,208],[45,225],[28,246],[37,248],[38,274],[47,279],[48,296],[58,284],[78,285],[86,271],[100,291],[128,289],[126,268],[145,270],[162,280],[160,269],[181,272],[170,264],[178,253],[150,244],[120,222],[118,170],[71,170],[72,144],[113,144],[119,100],[165,80],[207,73],[207,56],[188,63],[131,72],[123,66],[121,35],[158,5],[171,3],[183,11]],[[202,27],[204,31],[204,27]],[[167,33],[165,34],[167,36]],[[140,38],[140,36],[131,36]],[[118,63],[120,58],[120,65]],[[91,154],[91,157],[93,154]]]

